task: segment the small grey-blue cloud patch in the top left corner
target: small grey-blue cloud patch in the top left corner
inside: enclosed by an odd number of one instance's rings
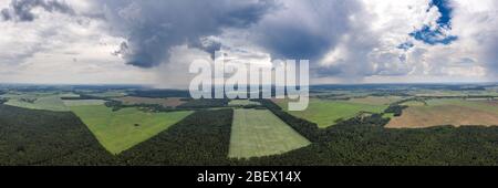
[[[31,11],[35,8],[48,12],[74,14],[74,10],[65,1],[58,0],[12,0],[9,8],[2,9],[0,14],[8,21],[33,21],[37,15]]]

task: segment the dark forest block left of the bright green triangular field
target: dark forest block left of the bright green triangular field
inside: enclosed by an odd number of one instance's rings
[[[72,113],[0,105],[0,165],[98,165],[113,157]]]

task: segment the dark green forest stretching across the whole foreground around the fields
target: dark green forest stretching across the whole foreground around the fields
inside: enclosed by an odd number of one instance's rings
[[[232,109],[197,111],[113,156],[72,113],[0,105],[0,165],[498,165],[498,128],[384,128],[380,114],[328,128],[263,106],[313,144],[282,155],[227,158]]]

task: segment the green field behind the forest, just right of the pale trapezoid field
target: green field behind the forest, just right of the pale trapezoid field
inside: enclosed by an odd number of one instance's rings
[[[279,100],[277,104],[287,111],[287,101]],[[387,105],[311,98],[305,111],[290,111],[288,113],[317,123],[319,127],[324,128],[334,125],[336,121],[352,118],[361,112],[382,113],[386,107]]]

